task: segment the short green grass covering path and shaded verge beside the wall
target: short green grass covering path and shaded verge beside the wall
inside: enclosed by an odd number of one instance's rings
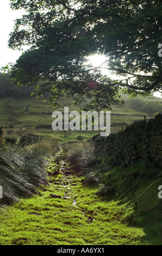
[[[135,201],[153,179],[153,165],[110,169],[106,174],[116,190],[101,196],[98,182],[83,182],[86,175],[76,172],[64,156],[61,151],[49,161],[48,185],[39,194],[2,210],[1,245],[161,245],[162,206],[141,214]],[[132,182],[130,176],[140,168],[141,175],[147,170],[149,180],[136,187],[140,178]]]

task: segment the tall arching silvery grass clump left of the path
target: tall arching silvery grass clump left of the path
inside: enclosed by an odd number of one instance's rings
[[[43,142],[26,148],[16,145],[0,148],[1,206],[30,197],[40,185],[47,184],[46,164],[51,153]]]

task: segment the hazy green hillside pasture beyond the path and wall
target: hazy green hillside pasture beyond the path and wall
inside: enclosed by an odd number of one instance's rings
[[[128,95],[122,95],[124,105],[112,106],[111,132],[117,132],[122,126],[129,125],[136,120],[153,118],[156,113],[162,113],[162,100],[157,97],[136,97],[129,99]],[[69,112],[78,110],[79,107],[73,105],[71,98],[60,99],[59,106],[53,108],[42,97],[36,99],[35,96],[14,96],[1,97],[0,126],[7,127],[7,137],[17,139],[27,133],[43,136],[44,139],[55,141],[73,141],[78,136],[88,139],[96,135],[96,131],[53,131],[51,128],[53,111],[64,113],[64,107],[69,107]]]

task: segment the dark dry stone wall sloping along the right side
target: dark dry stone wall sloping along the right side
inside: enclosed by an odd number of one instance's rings
[[[96,152],[110,157],[116,166],[123,162],[154,161],[162,166],[162,115],[137,121],[108,137],[94,136]]]

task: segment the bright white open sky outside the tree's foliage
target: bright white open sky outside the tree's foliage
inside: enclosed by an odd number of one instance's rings
[[[0,1],[0,69],[8,63],[15,63],[22,51],[11,50],[8,47],[9,33],[13,31],[14,20],[21,18],[25,13],[24,10],[11,10],[9,0]],[[155,96],[161,97],[160,93],[154,93]]]

